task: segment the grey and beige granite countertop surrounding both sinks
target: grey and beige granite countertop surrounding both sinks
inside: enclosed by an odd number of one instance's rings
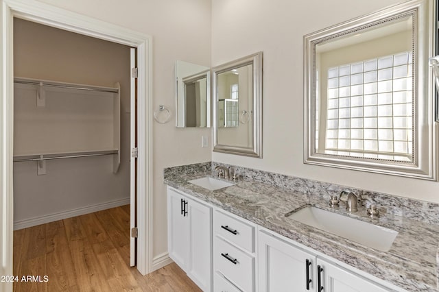
[[[213,177],[213,174],[209,167],[170,168],[165,171],[165,184],[407,291],[439,291],[438,225],[389,212],[371,219],[366,215],[366,206],[359,206],[358,212],[351,214],[346,212],[343,203],[332,209],[327,197],[300,193],[246,178],[241,178],[233,186],[215,191],[188,182],[206,175]],[[285,213],[307,204],[390,228],[399,234],[390,250],[381,252],[285,217]]]

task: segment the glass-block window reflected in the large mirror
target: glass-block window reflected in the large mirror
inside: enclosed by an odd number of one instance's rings
[[[412,51],[331,67],[327,118],[316,114],[316,151],[410,161],[412,108]]]

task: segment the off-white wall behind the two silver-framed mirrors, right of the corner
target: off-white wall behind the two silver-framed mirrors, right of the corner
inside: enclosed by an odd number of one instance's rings
[[[439,202],[437,182],[303,163],[303,36],[399,2],[212,0],[212,66],[263,51],[263,158],[212,160]]]

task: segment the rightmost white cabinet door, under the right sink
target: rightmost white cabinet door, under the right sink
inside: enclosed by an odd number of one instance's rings
[[[318,292],[392,291],[322,258],[317,258],[317,265],[321,269],[321,271],[319,269],[317,277],[320,278],[320,287],[322,287],[317,289]]]

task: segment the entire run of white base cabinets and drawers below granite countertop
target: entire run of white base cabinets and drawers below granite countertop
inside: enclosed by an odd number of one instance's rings
[[[169,256],[203,291],[405,291],[169,186],[167,194]]]

